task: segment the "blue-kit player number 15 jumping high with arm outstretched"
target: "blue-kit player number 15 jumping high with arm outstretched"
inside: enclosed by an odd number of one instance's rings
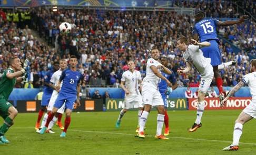
[[[223,93],[223,81],[219,73],[219,69],[223,69],[224,66],[231,65],[232,62],[221,63],[221,53],[219,50],[219,38],[217,38],[217,26],[229,26],[234,24],[242,23],[248,16],[241,16],[239,20],[231,21],[219,21],[212,18],[204,18],[204,12],[198,11],[195,13],[195,26],[193,30],[193,38],[200,42],[208,41],[211,43],[211,46],[204,47],[201,50],[203,51],[203,56],[205,58],[211,58],[211,65],[213,67],[214,77],[216,79],[216,85],[219,89],[220,101],[224,99]]]

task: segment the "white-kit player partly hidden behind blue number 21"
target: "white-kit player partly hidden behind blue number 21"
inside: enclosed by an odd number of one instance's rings
[[[61,60],[60,60],[60,70],[54,72],[53,75],[52,75],[52,77],[51,77],[51,81],[50,81],[51,83],[50,83],[50,84],[53,86],[54,91],[53,91],[53,93],[52,93],[50,102],[49,102],[48,107],[47,107],[47,113],[44,115],[44,118],[43,118],[43,120],[42,120],[41,127],[40,127],[40,129],[36,130],[37,133],[40,133],[41,128],[43,128],[44,125],[45,125],[45,123],[46,123],[46,119],[47,119],[47,117],[48,117],[48,113],[51,112],[52,109],[53,109],[53,105],[54,105],[54,103],[55,103],[55,101],[56,101],[56,98],[58,97],[58,92],[60,91],[60,90],[57,90],[57,89],[55,88],[55,86],[58,84],[58,81],[60,80],[61,73],[62,73],[63,70],[66,69],[66,67],[67,67],[67,62],[66,62],[66,60],[61,59]],[[56,122],[58,119],[59,119],[58,121],[61,120],[61,116],[62,116],[62,114],[64,113],[64,111],[65,111],[65,104],[63,104],[62,107],[61,107],[60,109],[58,109],[57,113],[55,114],[55,116],[53,117],[51,123],[49,124],[48,129],[46,130],[46,132],[48,132],[48,133],[50,133],[50,134],[54,134],[54,133],[55,133],[55,132],[52,130],[52,127],[53,127],[53,125],[55,124],[55,122]],[[60,127],[60,129],[62,129],[62,130],[64,129],[64,127],[63,127],[62,124],[61,124],[61,121],[58,122],[58,126]]]

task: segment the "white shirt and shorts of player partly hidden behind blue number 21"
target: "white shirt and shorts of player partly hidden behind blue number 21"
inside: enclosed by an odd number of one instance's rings
[[[61,73],[62,73],[61,70],[58,70],[58,71],[56,71],[56,72],[53,73],[50,82],[53,83],[54,86],[56,86],[56,85],[57,85],[57,82],[60,80]],[[61,85],[62,85],[62,83],[61,83]],[[56,101],[57,97],[58,97],[58,92],[54,90],[53,93],[52,93],[50,102],[49,102],[49,104],[48,104],[48,107],[47,107],[47,110],[48,110],[48,111],[52,111],[52,110],[53,110],[53,106],[54,106],[54,104],[55,104],[55,101]],[[63,104],[62,107],[57,110],[57,113],[63,114],[64,111],[65,111],[65,104]]]

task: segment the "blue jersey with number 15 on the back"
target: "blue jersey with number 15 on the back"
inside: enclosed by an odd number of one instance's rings
[[[218,22],[219,20],[216,19],[204,18],[195,24],[193,34],[198,34],[200,42],[210,39],[218,41],[219,38],[217,38],[216,31],[216,26]]]

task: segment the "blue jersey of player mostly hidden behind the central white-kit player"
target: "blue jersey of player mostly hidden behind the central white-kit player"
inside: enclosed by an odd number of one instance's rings
[[[164,73],[164,72],[161,72],[161,73],[162,73],[162,75],[163,75],[166,79],[168,79],[172,84],[174,84],[174,83],[176,83],[176,78],[175,78],[175,76],[174,76],[173,71],[171,71],[171,72],[172,72],[171,75],[166,74],[166,73]],[[160,92],[161,94],[165,94],[165,92],[167,91],[167,87],[168,87],[168,85],[167,85],[166,81],[160,79],[160,82],[158,83],[159,92]]]

